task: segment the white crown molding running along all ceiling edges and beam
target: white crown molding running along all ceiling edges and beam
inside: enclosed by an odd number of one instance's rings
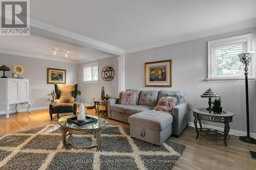
[[[71,31],[68,31],[65,29],[50,25],[49,23],[40,21],[35,18],[30,18],[30,26],[37,29],[37,31],[31,30],[31,35],[35,34],[34,36],[38,36],[37,35],[38,33],[40,33],[40,35],[45,35],[46,33],[44,31],[47,31],[47,32],[51,32],[53,34],[62,36],[62,38],[66,39],[67,41],[70,41],[70,40],[68,40],[68,38],[72,38],[73,40],[76,40],[77,44],[78,44],[78,42],[80,42],[80,43],[82,42],[83,45],[85,44],[84,46],[91,47],[96,50],[106,52],[106,53],[109,53],[109,54],[112,54],[115,56],[123,56],[124,54],[144,51],[144,50],[148,50],[151,48],[156,48],[156,47],[161,47],[161,46],[166,46],[166,45],[176,44],[176,43],[180,43],[180,42],[185,42],[185,41],[190,41],[190,40],[200,39],[200,38],[204,38],[204,37],[209,37],[209,36],[219,35],[219,34],[223,34],[223,33],[229,33],[229,32],[233,32],[233,31],[256,27],[256,19],[239,22],[239,23],[236,23],[233,25],[229,25],[229,26],[225,26],[225,27],[221,27],[221,28],[217,28],[217,29],[211,29],[211,30],[204,31],[204,32],[199,32],[199,33],[195,33],[195,34],[189,34],[189,35],[185,35],[185,36],[181,36],[181,37],[176,37],[176,38],[172,38],[167,41],[161,41],[161,42],[157,42],[157,43],[148,44],[145,46],[139,46],[139,47],[132,48],[132,49],[126,50],[126,51],[121,48],[118,48],[116,46],[113,46],[113,45],[110,45],[110,44],[107,44],[107,43],[104,43],[104,42],[101,42],[101,41],[98,41],[98,40],[95,40],[95,39],[92,39],[92,38],[89,38],[89,37],[86,37],[86,36],[71,32]],[[38,30],[41,30],[41,31],[38,31]],[[75,43],[75,42],[72,41],[72,43]],[[72,60],[51,58],[51,57],[33,55],[33,54],[27,54],[27,53],[11,52],[11,51],[7,51],[7,50],[3,50],[3,49],[2,50],[0,49],[0,53],[16,55],[16,56],[23,56],[23,57],[30,57],[30,58],[39,58],[39,59],[45,59],[45,60],[67,62],[67,63],[75,63],[75,64],[78,64],[81,62],[91,62],[91,61],[99,60],[99,59],[102,59],[101,57],[104,56],[103,55],[103,56],[99,56],[99,57],[92,58],[92,59],[84,59],[84,60],[77,62],[77,61],[72,61]],[[106,58],[108,58],[108,57],[106,57]]]

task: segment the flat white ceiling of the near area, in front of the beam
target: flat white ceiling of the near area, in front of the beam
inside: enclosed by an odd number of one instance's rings
[[[124,50],[256,18],[249,0],[37,0],[31,17]]]

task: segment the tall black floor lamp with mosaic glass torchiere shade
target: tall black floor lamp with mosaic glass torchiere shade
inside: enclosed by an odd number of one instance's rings
[[[247,122],[247,136],[240,136],[239,139],[247,143],[256,144],[256,139],[250,137],[250,119],[249,119],[249,97],[248,97],[248,65],[251,62],[254,52],[241,53],[238,55],[240,61],[245,65],[245,95],[246,95],[246,122]]]

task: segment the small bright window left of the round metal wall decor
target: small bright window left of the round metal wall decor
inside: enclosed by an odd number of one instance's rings
[[[83,81],[98,82],[98,63],[83,65]]]

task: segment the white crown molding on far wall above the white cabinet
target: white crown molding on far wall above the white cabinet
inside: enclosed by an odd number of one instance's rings
[[[65,62],[65,63],[78,64],[77,61],[65,60],[65,59],[60,59],[60,58],[52,58],[52,57],[46,57],[46,56],[23,53],[23,52],[15,52],[15,51],[4,50],[4,49],[0,49],[0,53],[7,54],[7,55],[13,55],[13,56],[21,56],[21,57],[29,57],[29,58],[36,58],[36,59],[42,59],[42,60],[51,60],[51,61],[59,61],[59,62]]]

